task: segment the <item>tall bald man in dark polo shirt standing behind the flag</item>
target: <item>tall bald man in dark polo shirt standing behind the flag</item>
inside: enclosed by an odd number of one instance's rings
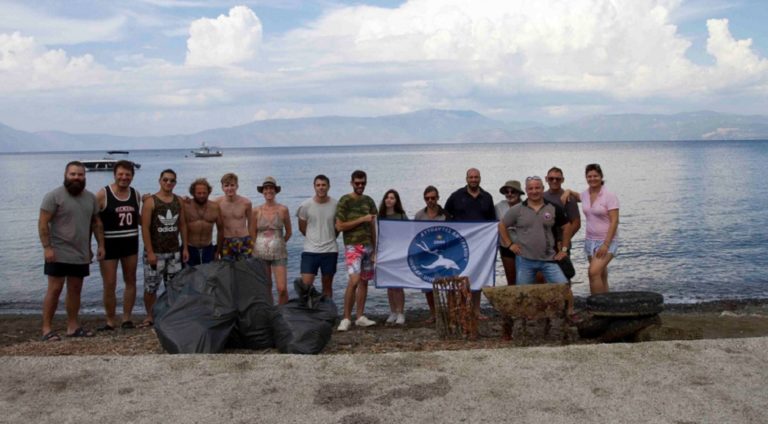
[[[445,202],[445,210],[452,221],[495,221],[496,209],[493,196],[480,187],[480,171],[477,168],[467,170],[467,185],[453,193]],[[472,291],[472,309],[479,319],[487,319],[480,314],[480,291]]]

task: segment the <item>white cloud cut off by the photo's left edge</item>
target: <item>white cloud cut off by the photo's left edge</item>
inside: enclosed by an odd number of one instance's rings
[[[51,90],[98,84],[107,72],[93,56],[49,50],[18,32],[0,34],[0,91]]]

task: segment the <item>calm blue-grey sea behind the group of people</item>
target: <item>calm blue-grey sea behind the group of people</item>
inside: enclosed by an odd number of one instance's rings
[[[185,150],[134,151],[140,163],[133,186],[144,192],[158,189],[161,170],[173,168],[177,193],[186,194],[197,177],[206,177],[220,195],[218,181],[225,172],[240,176],[241,195],[262,203],[256,186],[267,175],[282,186],[278,201],[294,216],[298,205],[312,196],[312,179],[326,174],[331,195],[349,192],[354,169],[368,173],[366,194],[381,200],[397,189],[409,216],[423,207],[422,191],[438,187],[441,203],[464,185],[467,168],[482,173],[482,186],[494,201],[509,179],[544,176],[551,166],[565,171],[565,186],[586,188],[583,169],[597,162],[606,187],[621,202],[619,256],[610,265],[613,290],[653,290],[669,303],[719,299],[768,298],[768,185],[765,164],[768,142],[644,142],[644,143],[522,143],[485,145],[416,145],[370,147],[307,147],[228,149],[220,158],[187,157]],[[46,278],[37,235],[43,195],[61,184],[64,165],[73,159],[98,159],[99,152],[0,155],[0,313],[39,312]],[[111,173],[89,173],[87,187],[96,191],[112,180]],[[288,245],[289,280],[298,276],[302,236],[295,217]],[[577,234],[573,257],[576,295],[589,293],[586,283],[584,227]],[[122,278],[122,277],[119,277]],[[139,266],[139,286],[142,271]],[[497,261],[497,281],[505,283]],[[118,283],[118,287],[122,284]],[[337,302],[346,286],[343,264],[334,282]],[[83,309],[101,311],[98,264],[83,291]],[[119,295],[122,295],[120,290]],[[424,308],[423,295],[407,294],[408,308]],[[369,291],[369,309],[387,310],[386,292]],[[63,296],[60,308],[63,307]],[[142,310],[141,301],[137,302]]]

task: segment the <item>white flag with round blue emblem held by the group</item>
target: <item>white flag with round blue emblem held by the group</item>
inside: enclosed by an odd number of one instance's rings
[[[473,290],[495,284],[498,223],[380,220],[376,287],[431,289],[441,277],[469,277]]]

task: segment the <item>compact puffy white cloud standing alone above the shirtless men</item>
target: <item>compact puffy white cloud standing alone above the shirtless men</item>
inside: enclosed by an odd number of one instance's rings
[[[256,58],[261,44],[261,21],[245,6],[229,15],[198,19],[189,27],[186,64],[200,67],[230,66]]]

